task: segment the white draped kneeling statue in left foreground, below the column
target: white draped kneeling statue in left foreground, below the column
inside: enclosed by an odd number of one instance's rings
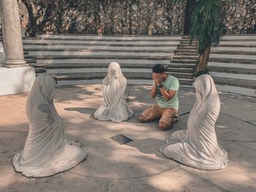
[[[79,164],[87,155],[79,142],[64,136],[64,123],[53,104],[55,85],[49,74],[40,74],[26,102],[29,135],[23,151],[12,159],[15,171],[26,177],[63,172]]]

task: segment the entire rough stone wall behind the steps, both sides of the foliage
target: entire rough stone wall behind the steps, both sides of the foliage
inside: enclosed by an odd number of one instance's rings
[[[28,13],[19,1],[26,26]],[[185,4],[172,0],[70,0],[37,33],[183,34]],[[255,0],[225,1],[227,34],[256,33]],[[25,23],[25,24],[24,24]],[[1,25],[1,23],[0,23]],[[0,26],[1,28],[1,26]]]

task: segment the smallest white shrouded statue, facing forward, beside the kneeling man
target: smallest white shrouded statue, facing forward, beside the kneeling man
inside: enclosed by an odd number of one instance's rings
[[[94,112],[94,117],[98,120],[111,120],[113,122],[121,122],[132,117],[133,112],[124,99],[127,79],[122,74],[118,63],[111,62],[109,64],[108,74],[103,79],[102,84],[104,101]]]

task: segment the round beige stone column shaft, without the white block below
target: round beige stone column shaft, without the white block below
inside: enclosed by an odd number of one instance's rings
[[[1,24],[7,68],[29,66],[23,55],[17,0],[1,0]]]

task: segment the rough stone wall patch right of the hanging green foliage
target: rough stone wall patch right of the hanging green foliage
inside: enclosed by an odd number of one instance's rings
[[[227,34],[256,33],[255,0],[225,1]]]

